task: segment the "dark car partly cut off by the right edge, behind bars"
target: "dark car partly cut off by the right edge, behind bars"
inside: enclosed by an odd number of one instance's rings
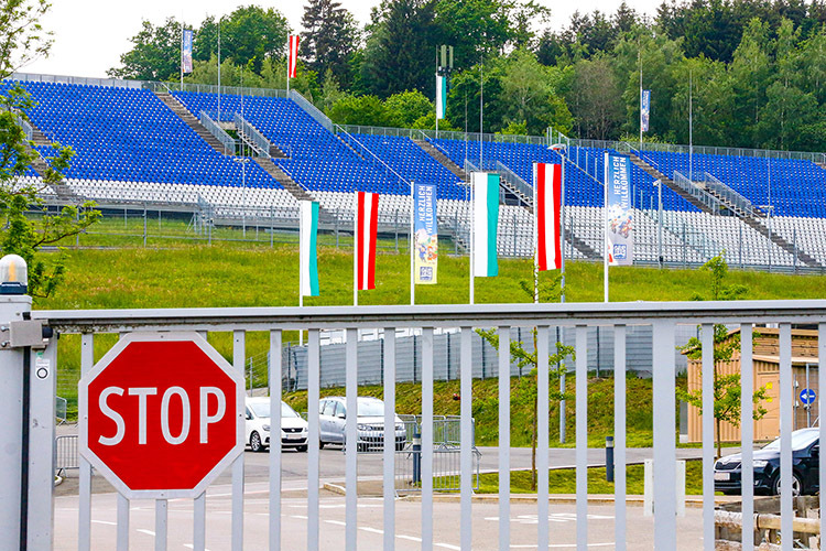
[[[792,433],[792,494],[816,494],[819,489],[818,435],[820,429],[801,429]],[[714,464],[714,489],[724,494],[740,494],[741,462],[738,454],[720,457]],[[780,493],[780,439],[754,451],[754,493]]]

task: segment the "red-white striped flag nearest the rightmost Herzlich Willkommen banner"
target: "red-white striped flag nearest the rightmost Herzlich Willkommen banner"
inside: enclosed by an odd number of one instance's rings
[[[562,268],[562,164],[534,163],[536,260],[540,271]]]

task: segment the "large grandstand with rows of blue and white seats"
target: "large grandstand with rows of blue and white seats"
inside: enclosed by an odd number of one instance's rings
[[[423,182],[438,190],[441,234],[464,246],[468,172],[480,168],[502,175],[500,255],[525,257],[532,165],[564,161],[566,255],[599,259],[600,181],[613,151],[633,162],[638,262],[689,266],[725,250],[735,266],[825,270],[823,154],[343,128],[295,91],[19,74],[0,93],[15,83],[37,104],[29,112],[37,151],[47,156],[57,141],[77,152],[54,202],[174,205],[208,209],[214,223],[258,217],[295,227],[297,201],[315,198],[328,224],[347,227],[352,192],[366,191],[382,194],[380,228],[406,231],[411,183]]]

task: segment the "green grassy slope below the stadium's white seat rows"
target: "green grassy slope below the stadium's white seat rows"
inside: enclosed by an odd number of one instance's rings
[[[468,258],[445,255],[439,262],[439,283],[419,287],[416,302],[467,303]],[[322,295],[307,298],[304,303],[309,306],[351,304],[351,251],[322,247],[318,266]],[[269,244],[171,245],[163,249],[75,250],[68,261],[65,283],[54,296],[35,300],[34,307],[293,306],[298,303],[297,270],[298,256],[294,245],[274,248],[270,248]],[[362,305],[407,304],[409,270],[406,255],[379,253],[377,289],[361,292],[359,302]],[[541,274],[543,280],[550,277],[548,273]],[[521,291],[519,281],[531,278],[531,260],[500,260],[498,278],[476,280],[476,301],[529,302],[531,299]],[[748,299],[819,299],[826,291],[826,277],[823,276],[731,271],[729,278],[731,283],[748,287]],[[611,300],[685,301],[704,294],[708,283],[708,274],[697,270],[612,268]],[[569,262],[567,299],[570,302],[601,301],[601,264]],[[297,335],[287,333],[284,339],[297,341]],[[96,359],[116,341],[115,335],[96,337]],[[231,357],[229,334],[210,334],[209,341],[227,358]],[[248,356],[264,353],[268,347],[269,337],[265,333],[248,334]],[[79,376],[79,337],[62,337],[58,355],[58,395],[72,402]],[[479,403],[487,400],[486,396],[483,392],[479,395]]]

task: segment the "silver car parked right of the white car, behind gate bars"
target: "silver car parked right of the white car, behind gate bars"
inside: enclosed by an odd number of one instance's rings
[[[319,445],[345,444],[347,425],[347,401],[344,397],[323,398],[319,411]],[[358,398],[358,450],[382,450],[384,447],[384,402],[378,398]],[[395,417],[395,449],[403,450],[406,442],[404,422]]]

